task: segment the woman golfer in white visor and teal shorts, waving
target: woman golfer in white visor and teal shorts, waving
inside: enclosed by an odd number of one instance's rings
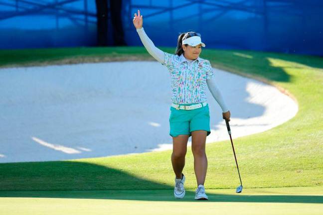
[[[143,28],[143,16],[135,13],[133,23],[147,51],[162,65],[166,66],[171,76],[171,107],[169,116],[169,135],[173,141],[171,163],[175,173],[174,196],[182,199],[185,195],[185,165],[187,141],[192,136],[194,172],[197,181],[195,200],[207,200],[204,181],[207,170],[205,141],[210,131],[209,107],[206,101],[206,86],[222,109],[223,119],[230,121],[230,111],[217,89],[213,69],[208,60],[199,57],[201,35],[186,32],[178,36],[175,54],[158,49]]]

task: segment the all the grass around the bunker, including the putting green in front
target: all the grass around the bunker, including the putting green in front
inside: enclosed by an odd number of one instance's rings
[[[173,49],[163,49],[172,53]],[[186,196],[175,200],[171,151],[55,162],[0,164],[0,215],[234,214],[323,212],[323,58],[255,51],[202,51],[213,67],[273,84],[294,97],[297,115],[271,130],[206,147],[209,201],[194,201],[188,149]],[[144,48],[0,51],[0,66],[147,60]],[[234,113],[231,113],[232,115]],[[168,135],[168,134],[165,134]]]

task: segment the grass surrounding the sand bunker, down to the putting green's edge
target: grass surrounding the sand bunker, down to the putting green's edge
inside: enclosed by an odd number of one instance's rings
[[[1,50],[0,67],[128,57],[152,60],[142,47]],[[273,84],[299,104],[293,119],[271,130],[241,138],[234,138],[232,131],[244,188],[323,186],[323,58],[208,49],[201,57],[209,59],[213,67]],[[206,188],[237,187],[239,178],[230,142],[208,144],[206,153]],[[70,161],[3,163],[0,191],[172,189],[170,154],[168,150]],[[185,188],[196,188],[190,150],[184,174]]]

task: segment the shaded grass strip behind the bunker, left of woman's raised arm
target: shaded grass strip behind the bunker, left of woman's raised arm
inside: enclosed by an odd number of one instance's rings
[[[0,50],[0,67],[124,61],[131,59],[153,60],[147,51],[145,52],[141,47]]]

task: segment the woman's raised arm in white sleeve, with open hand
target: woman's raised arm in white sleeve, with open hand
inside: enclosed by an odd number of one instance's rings
[[[165,54],[162,50],[157,48],[153,41],[147,36],[144,28],[143,28],[143,15],[140,15],[140,10],[138,10],[138,15],[135,13],[134,17],[134,26],[137,29],[139,37],[144,44],[145,48],[147,49],[148,53],[151,54],[158,62],[164,63]]]

